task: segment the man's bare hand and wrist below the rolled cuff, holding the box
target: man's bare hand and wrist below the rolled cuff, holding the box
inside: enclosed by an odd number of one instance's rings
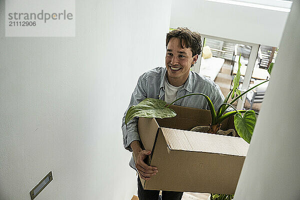
[[[151,176],[155,175],[158,170],[155,166],[149,166],[144,162],[147,155],[151,153],[149,150],[142,150],[138,140],[134,140],[130,143],[130,147],[136,156],[135,168],[139,172],[139,175],[144,180],[149,180]]]

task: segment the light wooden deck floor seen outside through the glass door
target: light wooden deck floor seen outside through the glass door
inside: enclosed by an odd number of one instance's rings
[[[217,83],[220,86],[220,89],[223,93],[224,96],[227,95],[227,93],[230,91],[230,84],[232,80],[232,76],[230,75],[231,73],[231,61],[225,60],[220,72],[217,74],[216,78],[214,79],[214,82]],[[236,105],[236,101],[233,103],[233,105]],[[252,109],[255,111],[260,110],[261,103],[254,103],[252,106]],[[245,109],[250,108],[249,102],[245,101],[244,104]]]

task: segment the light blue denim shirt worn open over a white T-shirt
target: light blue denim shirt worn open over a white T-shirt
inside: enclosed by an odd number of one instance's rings
[[[122,119],[123,143],[125,149],[132,151],[130,143],[134,140],[140,141],[137,132],[138,117],[134,117],[131,121],[129,121],[127,123],[126,129],[125,115],[128,108],[131,105],[137,105],[140,101],[142,101],[145,98],[158,98],[163,100],[165,75],[165,67],[156,67],[146,71],[141,76],[139,76],[137,84],[132,92],[130,103]],[[184,83],[183,87],[178,90],[176,98],[193,92],[201,92],[209,96],[216,110],[219,108],[219,106],[224,100],[224,95],[222,94],[220,87],[217,84],[215,84],[214,81],[194,71],[189,71],[188,78]],[[185,98],[177,100],[174,104],[186,107],[209,109],[206,99],[204,98],[204,96],[201,95],[187,96]],[[129,165],[135,169],[135,164],[132,157],[130,159]]]

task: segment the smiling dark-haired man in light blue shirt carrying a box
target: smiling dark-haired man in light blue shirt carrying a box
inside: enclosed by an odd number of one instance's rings
[[[131,105],[136,105],[145,98],[158,98],[172,102],[176,98],[193,93],[205,93],[211,99],[215,109],[221,105],[224,96],[217,84],[212,80],[190,70],[196,63],[201,52],[201,37],[197,32],[187,28],[176,28],[166,34],[165,67],[156,67],[139,76],[134,88],[130,103],[122,119],[123,143],[125,149],[133,151],[136,156],[134,163],[131,157],[129,165],[139,173],[137,178],[138,198],[140,200],[157,200],[159,190],[146,190],[142,188],[139,178],[149,180],[151,176],[159,173],[159,168],[148,166],[144,159],[151,153],[151,149],[142,149],[137,132],[135,117],[125,126],[125,115]],[[193,95],[182,98],[175,105],[209,109],[203,96]],[[180,191],[162,191],[162,200],[181,199]]]

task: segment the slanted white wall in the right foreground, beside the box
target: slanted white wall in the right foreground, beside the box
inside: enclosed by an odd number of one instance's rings
[[[293,1],[234,200],[300,199],[299,18]]]

